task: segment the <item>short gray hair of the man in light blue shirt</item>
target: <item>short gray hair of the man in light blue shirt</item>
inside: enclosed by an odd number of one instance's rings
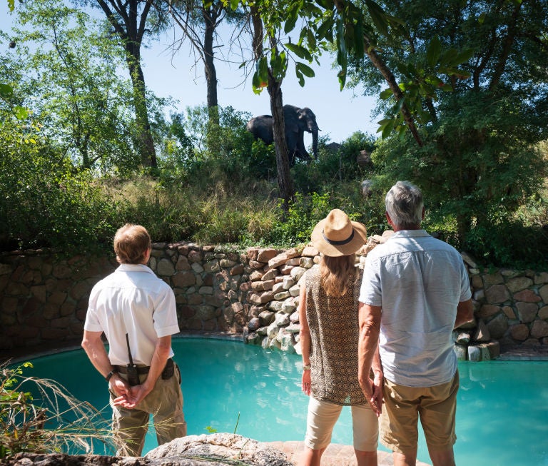
[[[420,226],[422,221],[422,192],[409,181],[398,181],[386,193],[385,206],[392,223],[400,230]]]

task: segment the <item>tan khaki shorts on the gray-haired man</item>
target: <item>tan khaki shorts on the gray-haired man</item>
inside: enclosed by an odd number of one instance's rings
[[[385,379],[385,405],[380,416],[382,445],[402,454],[417,451],[420,417],[429,450],[446,450],[457,440],[455,412],[459,372],[453,380],[434,387],[406,387]]]

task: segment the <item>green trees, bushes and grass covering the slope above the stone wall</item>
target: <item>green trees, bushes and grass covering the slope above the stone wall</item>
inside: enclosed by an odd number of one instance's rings
[[[370,1],[362,16],[348,13],[365,21],[365,36],[376,35],[374,43],[367,36],[365,54],[347,47],[344,63],[347,83],[366,93],[386,84],[379,63],[392,72],[397,86],[389,81],[377,108],[385,117],[382,138],[350,134],[338,151],[320,140],[317,161],[290,169],[288,204],[279,154],[245,131],[250,114],[208,100],[167,116],[168,102],[148,93],[143,116],[136,81],[116,72],[127,62],[120,34],[68,2],[20,6],[18,54],[0,54],[2,247],[110,250],[126,222],[143,224],[155,241],[288,247],[305,243],[335,207],[370,234],[382,233],[384,194],[407,179],[425,192],[427,231],[486,266],[545,267],[547,5],[471,1],[462,9],[462,2],[447,1],[436,9],[445,16],[427,21],[428,2],[390,3],[377,9]],[[292,5],[282,3],[292,28],[300,24],[295,15],[304,21],[317,13]],[[248,6],[240,4],[239,14]],[[285,51],[307,61],[318,48],[334,50],[335,23],[305,24],[300,43],[285,44]],[[283,21],[265,25],[269,34],[283,29]],[[328,30],[333,43],[325,41]],[[278,51],[263,59],[254,83],[281,63]],[[308,74],[298,67],[299,78]],[[145,119],[151,139],[143,137]],[[153,141],[154,163],[143,156],[143,141]],[[369,166],[356,162],[363,149],[372,153]],[[372,181],[367,198],[364,179]]]

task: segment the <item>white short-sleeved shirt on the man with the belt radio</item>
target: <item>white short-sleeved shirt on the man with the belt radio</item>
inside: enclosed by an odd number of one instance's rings
[[[105,333],[111,364],[129,362],[128,333],[133,363],[151,365],[156,340],[179,331],[175,295],[146,265],[121,264],[91,290],[83,328]]]

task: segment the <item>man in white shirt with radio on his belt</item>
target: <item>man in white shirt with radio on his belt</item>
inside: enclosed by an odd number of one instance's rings
[[[186,435],[181,373],[171,349],[179,327],[173,290],[146,265],[146,229],[120,228],[114,252],[120,266],[91,290],[82,347],[108,382],[117,454],[140,456],[149,415],[158,445]]]

